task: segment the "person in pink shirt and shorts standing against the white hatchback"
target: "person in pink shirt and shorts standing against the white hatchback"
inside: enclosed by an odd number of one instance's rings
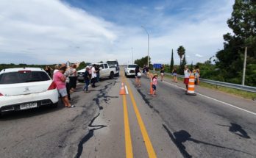
[[[63,66],[60,68],[59,71],[54,73],[54,83],[57,86],[57,90],[60,93],[60,96],[63,100],[65,107],[75,107],[74,105],[71,105],[68,101],[67,88],[65,87],[65,76],[63,75],[63,73],[65,73],[66,68],[66,66]]]

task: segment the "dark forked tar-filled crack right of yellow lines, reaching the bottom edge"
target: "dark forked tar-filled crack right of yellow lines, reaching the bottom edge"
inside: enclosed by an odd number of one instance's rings
[[[232,151],[242,152],[244,154],[249,154],[249,153],[246,153],[244,151],[237,150],[235,148],[227,148],[227,147],[224,147],[224,146],[218,146],[218,145],[215,145],[215,144],[212,144],[212,143],[206,143],[206,142],[203,142],[201,140],[193,139],[191,137],[191,134],[189,134],[185,130],[180,130],[179,132],[174,132],[172,134],[171,131],[167,128],[166,125],[163,124],[163,128],[166,129],[167,134],[169,135],[171,140],[174,142],[175,146],[177,146],[177,148],[179,149],[182,156],[185,157],[185,158],[191,158],[192,157],[190,154],[188,154],[188,151],[186,151],[186,147],[182,144],[182,143],[185,143],[186,141],[192,141],[193,143],[198,143],[198,144],[202,143],[202,144],[205,144],[207,146],[214,146],[214,147],[217,147],[217,148],[224,148],[224,149],[228,149],[228,150],[232,150]],[[252,154],[249,154],[249,155],[252,155]]]

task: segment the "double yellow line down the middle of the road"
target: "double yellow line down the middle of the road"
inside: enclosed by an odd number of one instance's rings
[[[148,152],[149,158],[154,158],[157,157],[154,148],[152,146],[152,143],[149,139],[149,134],[146,132],[146,127],[143,123],[143,120],[141,118],[141,114],[138,110],[135,98],[133,96],[132,90],[129,86],[129,83],[127,82],[127,79],[124,79],[124,76],[122,77],[122,81],[125,81],[127,85],[127,89],[129,91],[129,96],[131,98],[132,104],[133,104],[133,109],[135,110],[135,115],[137,117],[138,125],[140,126],[141,129],[141,134],[146,146],[146,151]],[[126,146],[126,156],[129,158],[133,157],[133,152],[132,152],[132,139],[131,139],[131,134],[129,130],[129,117],[128,117],[128,111],[127,111],[127,98],[124,95],[123,96],[123,104],[124,104],[124,134],[125,134],[125,146]]]

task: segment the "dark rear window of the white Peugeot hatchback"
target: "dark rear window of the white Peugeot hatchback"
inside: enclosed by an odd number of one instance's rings
[[[50,77],[43,71],[18,71],[2,73],[0,75],[0,84],[15,84],[25,82],[49,81]]]

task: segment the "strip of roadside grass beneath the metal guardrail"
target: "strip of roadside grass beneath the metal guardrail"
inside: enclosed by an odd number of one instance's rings
[[[158,73],[158,75],[160,76],[160,73]],[[167,77],[168,79],[173,79],[173,77],[169,76],[169,75],[165,75],[165,77]],[[180,82],[183,81],[182,78],[177,77],[177,79]],[[256,93],[246,92],[244,90],[236,90],[236,89],[233,89],[233,88],[230,88],[230,87],[221,87],[221,86],[211,85],[211,84],[204,83],[204,82],[200,82],[199,86],[200,87],[206,87],[206,88],[209,88],[211,90],[218,90],[218,91],[221,91],[221,92],[224,92],[224,93],[229,93],[229,94],[232,94],[232,95],[235,95],[235,96],[240,96],[240,97],[243,97],[243,98],[248,98],[248,99],[252,99],[252,100],[256,99]]]

